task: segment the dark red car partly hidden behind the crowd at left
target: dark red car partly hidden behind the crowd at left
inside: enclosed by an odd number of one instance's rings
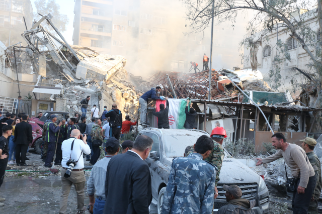
[[[54,114],[57,116],[57,122],[65,118],[67,120],[68,112],[46,112],[43,116],[38,118],[29,118],[28,123],[32,127],[32,143],[30,148],[34,148],[36,154],[41,154],[41,144],[42,144],[42,131],[44,128],[44,123],[46,120],[50,119],[50,115]]]

